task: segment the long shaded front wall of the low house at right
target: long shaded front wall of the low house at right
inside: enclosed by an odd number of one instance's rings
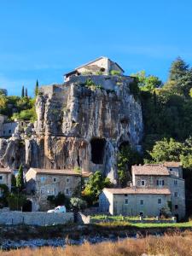
[[[128,204],[125,204],[125,199],[128,199]],[[161,204],[158,199],[161,199]],[[143,212],[143,216],[160,216],[160,209],[167,207],[167,201],[170,201],[170,195],[113,195],[113,215],[137,216]]]

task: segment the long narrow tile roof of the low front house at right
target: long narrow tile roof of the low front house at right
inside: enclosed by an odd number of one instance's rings
[[[143,195],[171,195],[170,189],[140,189],[140,188],[125,188],[125,189],[103,189],[111,194],[143,194]]]

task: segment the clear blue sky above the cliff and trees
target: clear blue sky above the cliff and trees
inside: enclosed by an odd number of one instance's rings
[[[32,96],[39,84],[105,55],[126,74],[163,81],[180,55],[192,64],[190,0],[1,0],[0,87]]]

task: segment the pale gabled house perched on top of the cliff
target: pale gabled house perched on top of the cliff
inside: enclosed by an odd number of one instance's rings
[[[94,61],[90,61],[80,67],[76,67],[73,71],[66,73],[64,75],[65,81],[69,81],[69,79],[73,76],[79,75],[94,75],[94,74],[102,74],[108,75],[112,71],[116,71],[119,74],[123,74],[124,70],[119,66],[117,62],[111,61],[108,57],[100,57]]]

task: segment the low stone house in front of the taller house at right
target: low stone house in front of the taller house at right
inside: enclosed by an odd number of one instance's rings
[[[169,189],[103,189],[99,206],[102,212],[112,215],[159,216],[170,200]]]

